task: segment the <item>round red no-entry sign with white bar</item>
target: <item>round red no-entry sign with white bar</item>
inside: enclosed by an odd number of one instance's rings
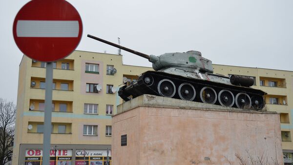
[[[24,55],[52,62],[71,54],[83,32],[77,10],[65,0],[32,0],[13,23],[14,40]]]

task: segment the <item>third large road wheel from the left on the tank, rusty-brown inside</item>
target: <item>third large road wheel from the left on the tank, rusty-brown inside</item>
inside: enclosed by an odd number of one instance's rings
[[[211,87],[204,87],[200,90],[200,99],[203,103],[215,104],[217,93]]]

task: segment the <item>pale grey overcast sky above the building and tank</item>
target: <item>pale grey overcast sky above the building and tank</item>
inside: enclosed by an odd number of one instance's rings
[[[17,101],[22,53],[12,35],[29,0],[0,1],[0,97]],[[293,71],[293,0],[68,0],[84,32],[77,50],[117,54],[101,37],[148,55],[197,50],[214,64]],[[122,51],[124,64],[151,66]]]

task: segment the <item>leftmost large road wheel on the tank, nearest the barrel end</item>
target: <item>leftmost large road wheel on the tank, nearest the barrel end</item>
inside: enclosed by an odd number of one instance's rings
[[[176,93],[175,84],[169,79],[163,79],[158,84],[158,92],[164,97],[173,97]]]

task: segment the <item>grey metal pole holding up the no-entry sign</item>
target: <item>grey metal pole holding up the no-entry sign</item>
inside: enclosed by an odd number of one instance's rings
[[[45,115],[43,128],[43,153],[42,165],[50,164],[51,148],[51,118],[52,118],[52,88],[53,88],[53,63],[46,64],[46,91],[45,91]]]

